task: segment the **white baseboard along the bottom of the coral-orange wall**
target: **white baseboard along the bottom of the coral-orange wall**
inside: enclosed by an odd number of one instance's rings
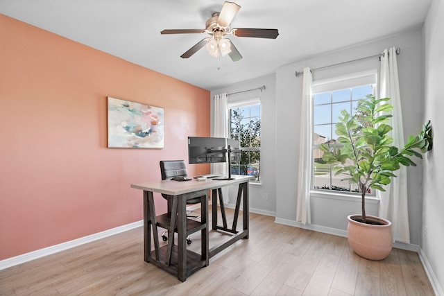
[[[91,234],[89,236],[83,236],[83,237],[77,238],[73,241],[67,241],[66,243],[60,243],[58,245],[51,245],[51,247],[45,247],[40,250],[35,250],[33,252],[29,252],[29,253],[22,254],[19,256],[4,259],[4,260],[0,261],[0,270],[10,268],[12,266],[19,265],[19,264],[22,264],[22,263],[25,263],[28,261],[32,261],[35,259],[39,259],[44,256],[55,254],[57,252],[68,250],[71,247],[77,247],[78,245],[83,245],[85,243],[91,243],[92,241],[97,241],[97,240],[99,240],[101,238],[105,238],[107,236],[112,236],[114,234],[126,232],[130,229],[134,229],[134,228],[137,228],[137,227],[140,227],[143,225],[144,225],[144,220],[140,220],[140,221],[130,223],[127,225],[122,225],[119,227],[108,229],[108,230],[105,230],[104,232]]]

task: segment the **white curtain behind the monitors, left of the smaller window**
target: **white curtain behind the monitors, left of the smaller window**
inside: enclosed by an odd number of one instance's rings
[[[213,136],[218,138],[229,138],[228,132],[228,98],[227,94],[216,94],[214,96],[214,123]],[[228,164],[226,162],[220,164],[211,164],[211,172],[213,174],[228,174]],[[228,203],[228,187],[222,188],[223,202]]]

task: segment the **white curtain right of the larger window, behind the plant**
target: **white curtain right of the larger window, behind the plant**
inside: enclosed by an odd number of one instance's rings
[[[391,98],[388,103],[393,105],[391,118],[391,137],[393,146],[404,145],[404,130],[402,128],[402,111],[400,87],[398,81],[398,64],[396,62],[396,49],[384,50],[381,57],[381,78],[379,81],[379,98]],[[377,191],[379,195],[379,217],[392,223],[393,241],[410,243],[409,211],[407,207],[407,169],[401,166],[394,172],[391,184],[386,186],[386,192]]]

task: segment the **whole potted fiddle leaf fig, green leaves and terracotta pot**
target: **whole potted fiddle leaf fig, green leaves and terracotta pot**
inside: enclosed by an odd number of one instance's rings
[[[432,150],[432,125],[422,126],[418,136],[410,136],[403,147],[395,147],[388,133],[393,106],[390,98],[376,99],[367,96],[358,104],[355,116],[342,110],[336,123],[338,139],[335,144],[323,143],[323,161],[332,164],[335,175],[345,175],[342,180],[357,184],[361,193],[361,215],[348,216],[347,235],[352,249],[367,259],[381,260],[390,254],[393,238],[391,222],[366,215],[366,193],[371,189],[385,191],[393,173],[400,166],[416,166],[411,157],[422,158],[421,153]]]

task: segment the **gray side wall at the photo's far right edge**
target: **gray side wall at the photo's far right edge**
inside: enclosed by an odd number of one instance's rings
[[[424,26],[425,117],[433,125],[434,150],[424,160],[422,258],[433,270],[438,295],[444,295],[444,1],[434,0]],[[427,231],[425,230],[427,229]]]

